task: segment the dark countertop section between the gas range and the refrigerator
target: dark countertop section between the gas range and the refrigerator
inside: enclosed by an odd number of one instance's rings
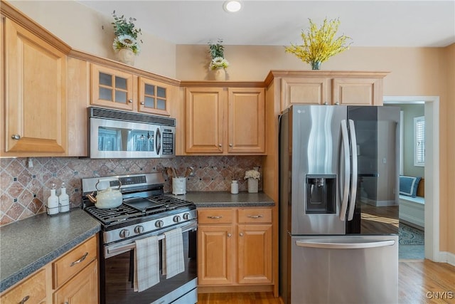
[[[275,203],[267,194],[239,192],[188,192],[176,195],[181,199],[193,201],[197,207],[261,207],[274,206]]]

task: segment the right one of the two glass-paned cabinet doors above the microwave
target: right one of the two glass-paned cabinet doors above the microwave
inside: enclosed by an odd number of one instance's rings
[[[171,115],[171,85],[139,77],[139,111]]]

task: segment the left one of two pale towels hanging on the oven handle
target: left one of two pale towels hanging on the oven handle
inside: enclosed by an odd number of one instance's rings
[[[159,283],[159,246],[156,236],[135,241],[134,291],[143,291]]]

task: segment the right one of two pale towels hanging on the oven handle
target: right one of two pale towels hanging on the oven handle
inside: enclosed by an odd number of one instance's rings
[[[177,228],[164,233],[163,240],[163,275],[172,278],[185,271],[183,258],[182,229]]]

